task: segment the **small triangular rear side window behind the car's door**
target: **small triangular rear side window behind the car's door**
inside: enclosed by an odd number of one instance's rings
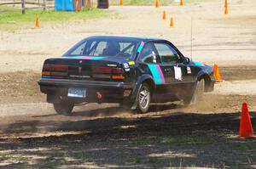
[[[139,61],[141,61],[143,63],[147,63],[147,64],[160,63],[160,59],[159,59],[159,57],[156,56],[151,43],[145,44],[145,46],[140,54]]]

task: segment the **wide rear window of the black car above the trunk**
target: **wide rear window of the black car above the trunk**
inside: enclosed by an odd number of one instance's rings
[[[108,56],[131,58],[139,41],[123,37],[87,38],[71,48],[65,56]]]

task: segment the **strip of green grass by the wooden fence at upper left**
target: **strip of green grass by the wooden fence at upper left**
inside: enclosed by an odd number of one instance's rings
[[[2,8],[6,7],[1,7]],[[92,20],[110,15],[108,11],[91,8],[84,8],[80,12],[62,12],[48,10],[44,12],[40,10],[26,10],[26,14],[21,14],[20,11],[0,13],[0,31],[15,31],[17,29],[34,28],[35,20],[38,16],[40,25],[50,23],[70,22],[80,20]]]

